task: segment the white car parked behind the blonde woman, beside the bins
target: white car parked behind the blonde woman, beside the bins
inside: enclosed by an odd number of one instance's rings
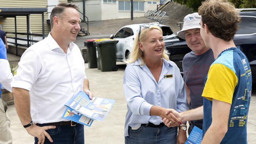
[[[117,31],[115,35],[110,35],[109,37],[110,39],[116,39],[119,41],[117,43],[117,49],[116,49],[117,61],[126,62],[128,55],[132,51],[134,39],[137,32],[139,31],[140,25],[141,24],[127,25],[122,27],[119,31]],[[162,28],[164,39],[167,36],[168,36],[168,39],[170,39],[170,37],[173,37],[173,38],[176,37],[176,35],[173,34],[173,31],[169,26],[160,24],[160,27]]]

